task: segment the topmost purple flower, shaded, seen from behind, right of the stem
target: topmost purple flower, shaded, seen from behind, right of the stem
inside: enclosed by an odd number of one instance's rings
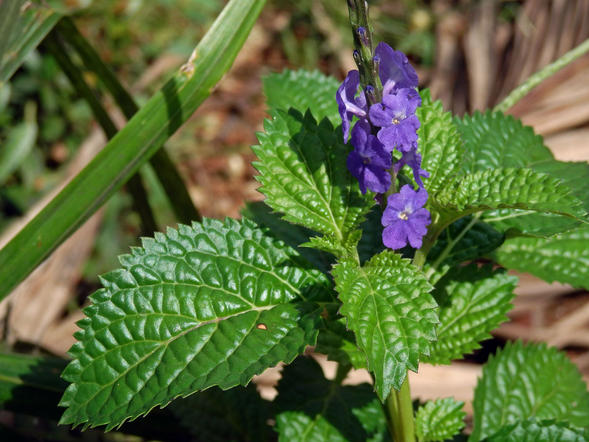
[[[380,59],[378,76],[383,87],[383,95],[394,93],[402,88],[415,88],[419,83],[417,72],[409,64],[403,52],[394,51],[385,42],[376,46],[375,55]]]

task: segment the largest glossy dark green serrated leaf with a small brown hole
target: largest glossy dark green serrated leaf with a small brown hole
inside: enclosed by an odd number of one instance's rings
[[[120,425],[213,385],[246,385],[314,345],[323,273],[247,219],[143,239],[78,322],[63,424]]]

